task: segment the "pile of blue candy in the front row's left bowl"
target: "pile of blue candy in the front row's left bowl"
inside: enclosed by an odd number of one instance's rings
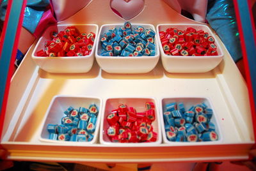
[[[90,142],[93,139],[97,123],[99,110],[95,104],[89,108],[79,107],[79,109],[68,107],[65,110],[65,117],[61,118],[61,124],[48,124],[49,139]]]

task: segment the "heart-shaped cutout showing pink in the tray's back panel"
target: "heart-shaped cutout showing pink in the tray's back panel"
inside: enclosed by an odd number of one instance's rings
[[[144,9],[144,0],[110,0],[110,7],[122,19],[131,20]]]

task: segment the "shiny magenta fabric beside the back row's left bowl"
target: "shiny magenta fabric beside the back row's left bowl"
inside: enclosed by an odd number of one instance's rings
[[[36,27],[36,30],[34,32],[34,36],[37,38],[38,36],[41,36],[43,31],[47,28],[47,26],[56,23],[56,19],[52,15],[52,9],[49,8],[49,10],[45,11],[42,15],[42,18],[40,22],[38,23],[38,26]]]

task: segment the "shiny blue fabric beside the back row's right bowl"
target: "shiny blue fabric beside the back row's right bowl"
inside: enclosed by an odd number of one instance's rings
[[[220,36],[235,62],[242,59],[241,43],[232,0],[209,0],[206,19]]]

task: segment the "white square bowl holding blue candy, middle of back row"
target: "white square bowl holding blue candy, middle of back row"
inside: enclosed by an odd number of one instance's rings
[[[132,29],[142,26],[145,29],[156,29],[151,24],[131,24]],[[100,27],[99,36],[96,45],[96,60],[102,70],[108,73],[147,73],[153,70],[159,60],[159,43],[155,35],[156,56],[136,56],[136,57],[121,57],[121,56],[100,56],[102,45],[100,38],[104,33],[108,32],[113,27],[123,27],[124,24],[105,24]]]

